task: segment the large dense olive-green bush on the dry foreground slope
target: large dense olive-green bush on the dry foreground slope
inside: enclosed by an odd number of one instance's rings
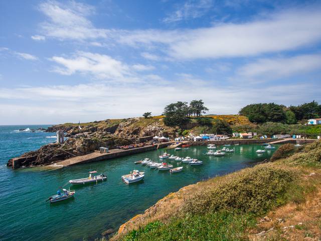
[[[244,169],[186,200],[183,211],[199,214],[238,209],[264,213],[284,203],[286,188],[293,180],[293,173],[272,166]]]

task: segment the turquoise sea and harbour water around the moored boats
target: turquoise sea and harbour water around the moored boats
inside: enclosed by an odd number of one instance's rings
[[[0,240],[92,240],[106,229],[117,230],[120,224],[143,212],[170,192],[216,175],[224,175],[264,160],[273,151],[257,155],[260,145],[231,146],[235,153],[225,157],[204,155],[207,147],[189,150],[168,150],[181,157],[202,160],[202,166],[191,167],[175,160],[174,166],[183,166],[180,173],[149,169],[134,161],[148,157],[158,160],[164,149],[135,154],[109,161],[82,164],[56,170],[26,168],[12,170],[5,164],[9,158],[54,142],[52,133],[15,132],[33,126],[0,127]],[[40,127],[40,126],[39,126]],[[46,126],[42,126],[46,127]],[[75,198],[49,204],[44,200],[56,193],[57,188],[69,188],[68,180],[86,177],[97,170],[107,174],[107,181],[97,185],[73,187]],[[145,171],[144,181],[126,185],[121,175],[130,170]]]

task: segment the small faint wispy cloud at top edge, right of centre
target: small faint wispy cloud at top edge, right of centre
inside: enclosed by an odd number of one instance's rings
[[[189,0],[178,6],[174,13],[163,19],[164,23],[173,23],[182,20],[196,19],[206,14],[213,6],[212,0]]]

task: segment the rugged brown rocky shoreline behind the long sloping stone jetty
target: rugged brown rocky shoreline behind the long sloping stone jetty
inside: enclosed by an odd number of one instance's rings
[[[122,120],[106,119],[101,122],[87,124],[63,124],[48,127],[45,132],[63,131],[68,139],[64,144],[47,144],[37,151],[24,153],[10,159],[7,166],[12,167],[14,160],[19,160],[20,167],[51,165],[57,161],[75,156],[82,156],[98,150],[99,147],[115,149],[117,146],[142,143],[152,136],[173,136],[174,129],[169,131],[159,119],[145,125],[142,118],[128,118]],[[80,127],[80,128],[79,128]]]

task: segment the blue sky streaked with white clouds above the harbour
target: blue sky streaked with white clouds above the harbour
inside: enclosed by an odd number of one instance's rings
[[[319,1],[2,1],[0,125],[321,102]]]

